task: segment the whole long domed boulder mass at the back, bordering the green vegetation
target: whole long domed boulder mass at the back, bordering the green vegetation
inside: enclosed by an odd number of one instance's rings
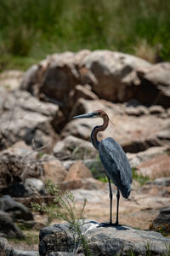
[[[48,55],[28,69],[21,88],[68,108],[70,92],[77,84],[90,84],[95,94],[109,101],[136,98],[143,103],[170,107],[169,63],[152,65],[136,56],[111,50],[84,49]],[[79,92],[84,98],[89,95]]]

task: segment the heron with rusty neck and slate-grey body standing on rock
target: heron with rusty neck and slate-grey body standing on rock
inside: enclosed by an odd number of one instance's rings
[[[92,113],[84,113],[73,117],[73,119],[84,118],[102,118],[103,125],[97,125],[91,132],[91,143],[99,151],[99,158],[104,166],[106,177],[109,182],[110,189],[110,222],[108,225],[119,225],[119,199],[120,191],[124,198],[128,198],[131,191],[132,171],[127,160],[127,156],[123,151],[121,145],[116,141],[107,137],[99,142],[97,135],[99,131],[105,131],[109,125],[109,117],[103,110],[96,110]],[[112,223],[112,189],[111,181],[116,185],[116,223]],[[107,224],[105,224],[107,225]]]

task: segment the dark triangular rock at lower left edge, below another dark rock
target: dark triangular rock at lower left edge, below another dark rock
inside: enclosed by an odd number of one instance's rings
[[[21,230],[13,223],[7,212],[0,211],[0,233],[1,236],[8,237],[25,237]]]

